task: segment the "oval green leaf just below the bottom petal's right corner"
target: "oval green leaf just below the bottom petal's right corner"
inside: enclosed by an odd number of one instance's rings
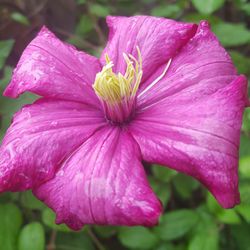
[[[129,248],[150,249],[158,242],[156,236],[145,227],[122,227],[119,229],[118,238]]]

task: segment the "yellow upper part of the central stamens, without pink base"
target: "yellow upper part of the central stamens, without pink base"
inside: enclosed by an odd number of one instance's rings
[[[127,64],[124,75],[115,74],[112,70],[114,64],[109,56],[105,55],[106,65],[96,75],[93,88],[100,99],[107,104],[129,102],[136,95],[142,78],[142,57],[138,47],[138,60],[132,55],[123,53]]]

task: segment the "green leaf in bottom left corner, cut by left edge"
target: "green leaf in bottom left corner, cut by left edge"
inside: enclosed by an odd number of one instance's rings
[[[14,204],[0,205],[0,248],[15,250],[22,214]]]

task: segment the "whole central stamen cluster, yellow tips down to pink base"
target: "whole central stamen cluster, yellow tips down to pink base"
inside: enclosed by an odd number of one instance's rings
[[[123,53],[126,72],[115,74],[114,64],[106,54],[106,65],[97,73],[93,88],[100,99],[107,119],[124,122],[131,116],[136,102],[136,93],[142,78],[142,57],[138,47],[138,60]]]

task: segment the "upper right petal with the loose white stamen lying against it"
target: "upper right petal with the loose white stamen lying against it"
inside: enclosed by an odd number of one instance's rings
[[[160,67],[144,85],[150,85],[164,67]],[[145,88],[140,89],[138,109],[155,105],[165,98],[175,99],[176,102],[199,99],[236,78],[237,72],[230,56],[210,31],[208,23],[202,21],[195,36],[173,57],[165,76],[150,90],[145,92]],[[176,99],[177,95],[180,97],[180,92],[183,93],[181,99]]]

